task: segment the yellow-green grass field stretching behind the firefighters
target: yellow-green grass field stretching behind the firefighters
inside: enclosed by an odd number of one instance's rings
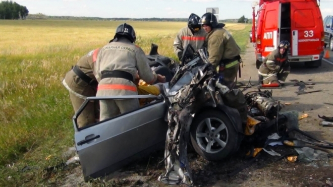
[[[74,111],[62,78],[82,55],[112,39],[121,23],[0,20],[0,185],[52,182],[40,171],[62,162],[61,154],[74,145]],[[160,54],[176,58],[173,40],[186,23],[127,23],[146,53],[153,42]],[[250,28],[226,26],[243,51]],[[26,167],[31,169],[22,172]]]

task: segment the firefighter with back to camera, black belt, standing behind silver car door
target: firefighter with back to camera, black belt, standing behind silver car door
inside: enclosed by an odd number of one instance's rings
[[[165,82],[165,77],[156,75],[148,65],[144,51],[134,44],[133,27],[126,23],[116,29],[113,40],[98,53],[95,72],[100,77],[96,96],[138,95],[134,84],[136,73],[148,84],[156,80]],[[100,120],[140,107],[139,99],[100,100]]]

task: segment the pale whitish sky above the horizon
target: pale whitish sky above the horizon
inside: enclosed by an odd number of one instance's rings
[[[252,18],[253,0],[12,0],[29,14],[100,18],[188,18],[218,8],[218,19]],[[259,0],[257,0],[259,1]],[[321,0],[322,17],[333,15],[333,0]],[[258,6],[256,6],[256,10]]]

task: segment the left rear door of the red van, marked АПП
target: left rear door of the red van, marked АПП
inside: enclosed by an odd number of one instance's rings
[[[267,56],[278,46],[278,31],[280,28],[280,2],[267,3],[262,32],[263,56]]]

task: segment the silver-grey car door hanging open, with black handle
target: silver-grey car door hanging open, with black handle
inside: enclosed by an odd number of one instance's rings
[[[167,104],[162,100],[82,129],[77,128],[77,114],[74,115],[75,144],[83,175],[102,176],[149,154],[155,146],[164,146],[168,130],[166,112]]]

